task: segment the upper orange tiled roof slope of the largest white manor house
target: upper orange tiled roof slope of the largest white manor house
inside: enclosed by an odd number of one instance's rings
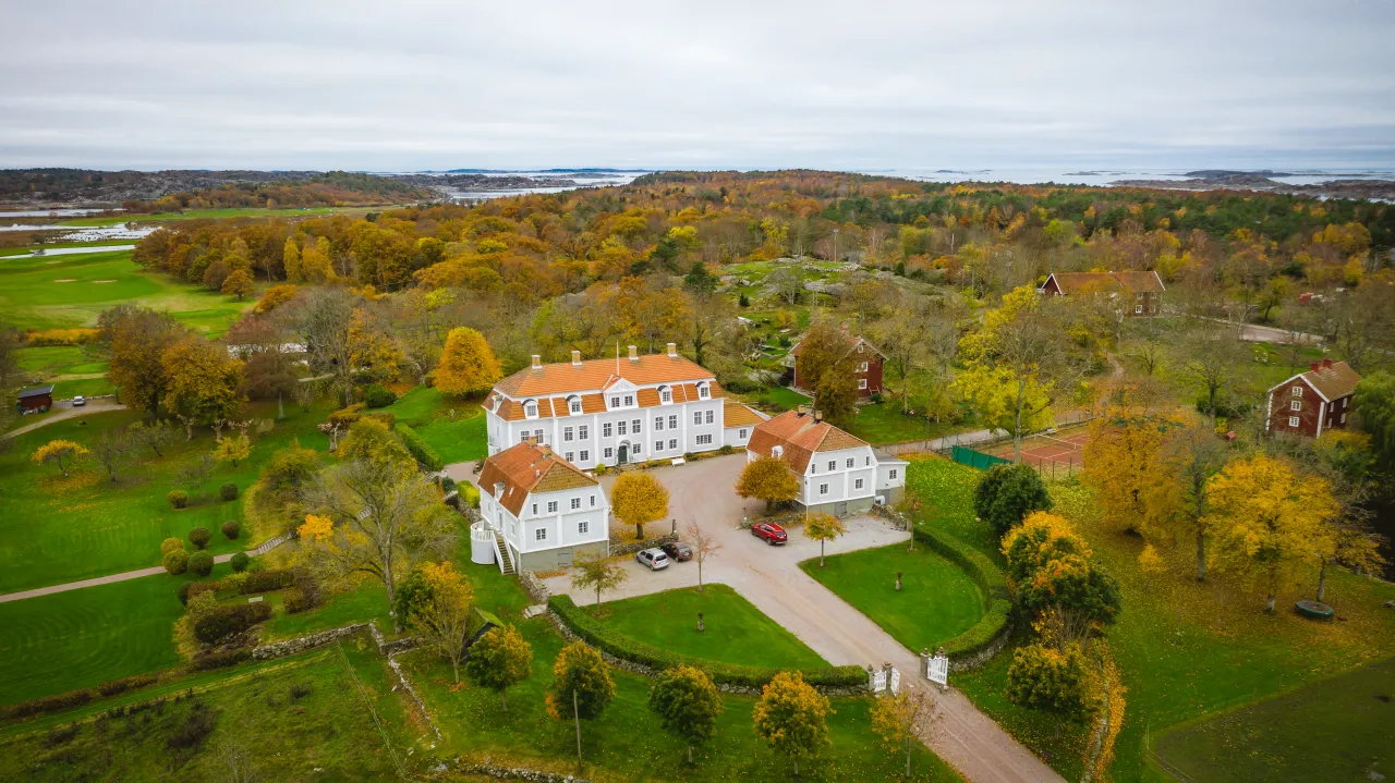
[[[621,358],[618,366],[618,378],[636,386],[711,380],[714,378],[711,371],[681,355],[646,354],[633,359]],[[615,359],[589,359],[575,365],[572,362],[545,364],[537,369],[523,368],[495,383],[494,389],[513,398],[598,392],[617,380],[615,369]]]

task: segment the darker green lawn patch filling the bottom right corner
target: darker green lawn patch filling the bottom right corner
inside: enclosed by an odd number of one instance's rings
[[[1170,731],[1154,750],[1184,780],[1375,780],[1395,761],[1395,662]]]

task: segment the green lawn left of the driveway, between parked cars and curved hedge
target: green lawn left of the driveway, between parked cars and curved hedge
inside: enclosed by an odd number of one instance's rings
[[[682,655],[771,669],[829,665],[727,585],[707,585],[703,592],[670,589],[603,603],[603,623],[611,628]],[[699,612],[706,627],[700,633]]]

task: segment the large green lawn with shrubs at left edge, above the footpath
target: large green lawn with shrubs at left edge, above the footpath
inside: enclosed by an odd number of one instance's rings
[[[271,456],[294,439],[317,450],[328,446],[315,429],[322,407],[308,414],[287,407],[286,412],[269,435],[254,440],[248,460],[236,468],[219,465],[202,497],[190,492],[191,504],[183,510],[170,509],[165,495],[174,488],[181,465],[212,450],[213,437],[206,431],[195,432],[193,442],[180,442],[163,458],[142,454],[116,483],[91,467],[63,478],[52,465],[33,464],[29,454],[59,437],[89,443],[99,431],[134,421],[134,411],[66,419],[17,436],[14,447],[0,454],[0,563],[6,564],[0,592],[158,566],[160,541],[186,538],[195,527],[213,534],[209,549],[215,555],[255,543],[227,541],[219,532],[223,521],[241,518],[243,497],[225,503],[218,488],[232,481],[246,492]],[[275,404],[254,403],[248,414],[275,417]]]

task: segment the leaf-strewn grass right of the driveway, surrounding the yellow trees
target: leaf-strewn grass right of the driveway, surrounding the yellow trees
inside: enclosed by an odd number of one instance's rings
[[[943,458],[914,460],[908,486],[922,499],[921,520],[1000,563],[995,536],[974,518],[978,475]],[[1395,646],[1395,613],[1381,607],[1395,598],[1395,585],[1338,571],[1328,575],[1328,600],[1345,621],[1313,623],[1289,612],[1268,616],[1262,596],[1223,577],[1197,584],[1184,560],[1149,577],[1137,564],[1143,543],[1108,529],[1088,490],[1060,482],[1052,485],[1052,496],[1056,513],[1089,541],[1123,594],[1123,613],[1108,633],[1129,687],[1112,766],[1116,780],[1163,779],[1145,758],[1149,734],[1368,665]],[[1300,574],[1283,585],[1279,605],[1310,598],[1314,582],[1315,573]],[[1010,663],[1007,649],[982,669],[953,674],[951,684],[1066,777],[1080,777],[1085,731],[1067,727],[1057,736],[1055,719],[1011,705],[1004,695]],[[1353,743],[1339,752],[1360,751]]]

